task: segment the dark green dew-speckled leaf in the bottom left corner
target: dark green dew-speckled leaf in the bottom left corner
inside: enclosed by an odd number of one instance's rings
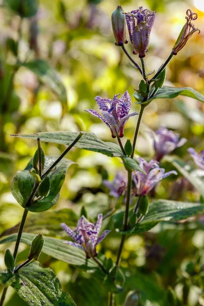
[[[28,305],[75,306],[71,296],[62,291],[59,279],[49,268],[31,263],[17,273],[7,275],[11,277],[13,289]]]

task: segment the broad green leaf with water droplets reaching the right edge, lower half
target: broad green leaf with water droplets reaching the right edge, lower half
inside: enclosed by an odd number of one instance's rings
[[[204,205],[170,200],[156,200],[149,205],[145,218],[128,231],[119,231],[120,234],[139,234],[149,231],[161,221],[180,221],[204,212]]]

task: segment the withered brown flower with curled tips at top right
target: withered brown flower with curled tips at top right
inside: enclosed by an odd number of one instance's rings
[[[189,38],[193,35],[193,33],[195,33],[196,31],[199,31],[197,28],[194,27],[194,24],[191,23],[192,20],[196,20],[197,19],[197,14],[196,13],[192,13],[191,10],[187,10],[186,11],[187,16],[186,18],[186,23],[176,41],[176,43],[174,44],[173,48],[172,48],[172,54],[176,55],[187,43],[187,41],[189,40]],[[198,34],[199,34],[198,33]]]

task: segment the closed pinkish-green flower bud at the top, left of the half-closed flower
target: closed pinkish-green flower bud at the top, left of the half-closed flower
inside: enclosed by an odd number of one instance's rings
[[[126,21],[123,12],[122,7],[118,5],[117,9],[115,9],[111,16],[113,34],[117,46],[122,46],[123,43],[128,42],[126,40]]]

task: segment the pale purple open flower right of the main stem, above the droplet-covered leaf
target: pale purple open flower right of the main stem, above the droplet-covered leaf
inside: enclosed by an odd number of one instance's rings
[[[177,174],[176,171],[169,171],[165,173],[165,169],[159,167],[159,162],[150,160],[147,162],[142,157],[138,158],[140,167],[146,172],[146,174],[140,171],[134,171],[132,178],[135,183],[134,194],[136,196],[147,194],[152,188],[154,188],[161,180],[170,174]]]

